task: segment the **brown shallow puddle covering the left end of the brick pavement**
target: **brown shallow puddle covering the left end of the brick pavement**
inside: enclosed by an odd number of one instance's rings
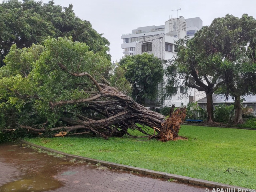
[[[75,174],[65,172],[66,169],[76,166],[64,158],[56,158],[46,153],[35,153],[31,147],[20,145],[1,144],[0,162],[6,163],[17,169],[17,174],[11,177],[13,180],[7,183],[0,177],[1,192],[39,192],[54,190],[64,185],[63,182],[54,178],[64,171],[64,174]],[[1,182],[2,180],[2,182]],[[10,181],[10,179],[9,179]]]

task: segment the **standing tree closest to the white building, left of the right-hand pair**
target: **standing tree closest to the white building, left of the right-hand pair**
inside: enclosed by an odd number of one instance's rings
[[[177,41],[177,57],[171,61],[165,71],[167,85],[164,98],[168,98],[176,90],[174,87],[185,85],[204,91],[207,98],[207,122],[213,123],[213,93],[223,84],[222,75],[215,71],[220,65],[216,55],[207,56],[200,43],[203,29],[192,39],[185,38]],[[184,94],[189,90],[185,89]]]

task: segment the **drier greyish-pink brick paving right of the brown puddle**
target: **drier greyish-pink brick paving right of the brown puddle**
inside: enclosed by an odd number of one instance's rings
[[[102,169],[102,168],[101,168]],[[65,181],[65,187],[54,191],[204,191],[205,187],[194,187],[179,182],[168,182],[159,178],[130,174],[125,171],[108,169],[92,169],[91,167],[76,167],[73,175],[58,175],[56,178]]]

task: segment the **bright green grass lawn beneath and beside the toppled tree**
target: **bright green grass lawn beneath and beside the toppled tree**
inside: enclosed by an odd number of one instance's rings
[[[179,135],[189,139],[160,142],[87,136],[26,141],[84,157],[256,189],[256,131],[183,125]],[[246,175],[224,173],[228,168]]]

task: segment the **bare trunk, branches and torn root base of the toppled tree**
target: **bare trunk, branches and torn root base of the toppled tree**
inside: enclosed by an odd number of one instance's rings
[[[61,64],[60,67],[67,71]],[[93,132],[106,139],[111,136],[122,137],[124,134],[133,136],[127,132],[128,128],[139,130],[142,133],[151,136],[150,138],[154,137],[160,141],[170,141],[175,137],[178,137],[180,125],[186,116],[185,108],[178,108],[174,111],[173,105],[170,111],[170,117],[163,121],[165,116],[136,103],[131,97],[121,93],[114,87],[98,83],[90,74],[85,72],[72,75],[85,75],[89,77],[98,88],[98,92],[91,91],[91,97],[86,99],[60,101],[56,103],[50,102],[49,105],[51,109],[64,104],[72,105],[86,102],[88,106],[84,107],[84,110],[93,110],[98,114],[101,114],[101,119],[97,120],[83,115],[77,115],[79,120],[74,120],[65,116],[61,117],[61,121],[65,122],[67,126],[54,127],[51,129],[38,129],[24,125],[18,126],[38,133],[66,130],[65,135],[73,134],[73,132],[77,130],[83,130],[87,131],[86,133]],[[68,111],[64,111],[63,114],[73,115],[72,112]],[[40,127],[40,125],[38,127]],[[158,135],[151,135],[149,128],[157,131]],[[62,133],[58,136],[64,135]]]

